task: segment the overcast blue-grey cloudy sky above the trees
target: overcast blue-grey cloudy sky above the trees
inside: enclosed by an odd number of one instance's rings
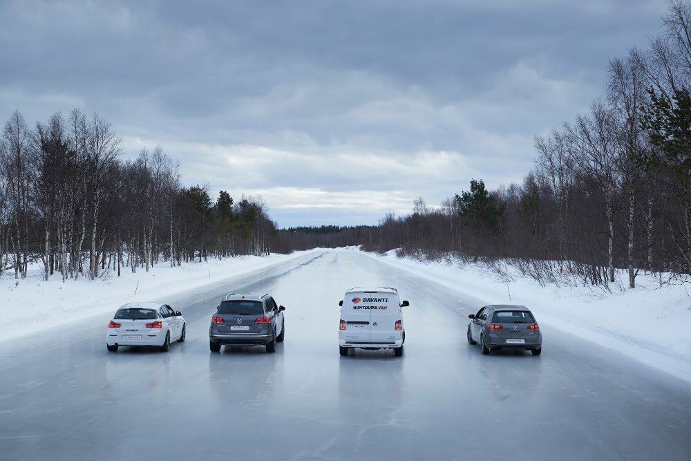
[[[123,158],[261,195],[279,227],[376,224],[531,169],[663,0],[0,0],[0,122],[74,107]]]

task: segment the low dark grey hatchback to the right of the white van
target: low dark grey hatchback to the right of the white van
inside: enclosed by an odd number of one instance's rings
[[[468,315],[468,343],[480,343],[482,353],[492,350],[523,349],[542,353],[542,334],[532,312],[524,305],[486,305]]]

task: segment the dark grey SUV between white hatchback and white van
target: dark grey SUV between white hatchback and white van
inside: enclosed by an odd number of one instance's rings
[[[276,342],[285,339],[285,308],[268,294],[234,294],[223,298],[211,317],[209,349],[220,352],[224,344],[265,346],[276,352]]]

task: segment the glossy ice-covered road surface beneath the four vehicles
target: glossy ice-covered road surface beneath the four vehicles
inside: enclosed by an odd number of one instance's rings
[[[410,301],[403,357],[339,356],[338,303],[360,285]],[[230,291],[285,305],[275,354],[209,352]],[[465,338],[482,299],[357,252],[161,301],[187,319],[167,354],[107,352],[110,315],[0,342],[0,459],[691,459],[688,383],[545,326],[540,357],[483,356]]]

